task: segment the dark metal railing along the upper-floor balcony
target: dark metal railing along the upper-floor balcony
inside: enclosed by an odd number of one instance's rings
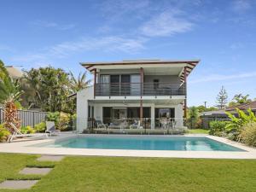
[[[185,83],[108,83],[95,84],[95,96],[184,96]]]

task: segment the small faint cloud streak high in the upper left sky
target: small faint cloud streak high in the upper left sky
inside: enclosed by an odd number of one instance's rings
[[[35,20],[32,22],[32,25],[34,26],[40,26],[40,27],[44,27],[44,28],[55,28],[58,30],[69,30],[72,29],[75,25],[74,24],[58,24],[55,22],[50,22],[50,21],[46,21],[46,20]]]

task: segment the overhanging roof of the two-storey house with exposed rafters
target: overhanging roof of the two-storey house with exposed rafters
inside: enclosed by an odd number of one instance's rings
[[[180,67],[177,71],[180,79],[184,80],[184,70],[183,67],[187,67],[187,76],[195,66],[200,62],[200,60],[125,60],[125,61],[108,61],[108,62],[80,62],[80,64],[85,67],[90,72],[96,69],[104,69],[109,66],[114,66],[114,68],[131,68],[131,66],[136,67],[148,67],[149,65],[157,65],[157,67]]]

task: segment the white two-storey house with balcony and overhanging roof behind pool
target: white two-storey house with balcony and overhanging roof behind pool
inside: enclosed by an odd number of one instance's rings
[[[83,62],[94,75],[92,86],[77,93],[77,128],[94,122],[146,129],[166,127],[163,120],[183,127],[187,106],[187,77],[199,63],[189,61]],[[169,125],[169,124],[168,124]]]

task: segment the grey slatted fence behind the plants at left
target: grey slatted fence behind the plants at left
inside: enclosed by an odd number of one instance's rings
[[[18,110],[18,115],[21,121],[21,126],[34,127],[38,123],[45,120],[47,112],[39,112],[32,110]],[[0,108],[0,124],[3,123],[4,113],[3,108]]]

